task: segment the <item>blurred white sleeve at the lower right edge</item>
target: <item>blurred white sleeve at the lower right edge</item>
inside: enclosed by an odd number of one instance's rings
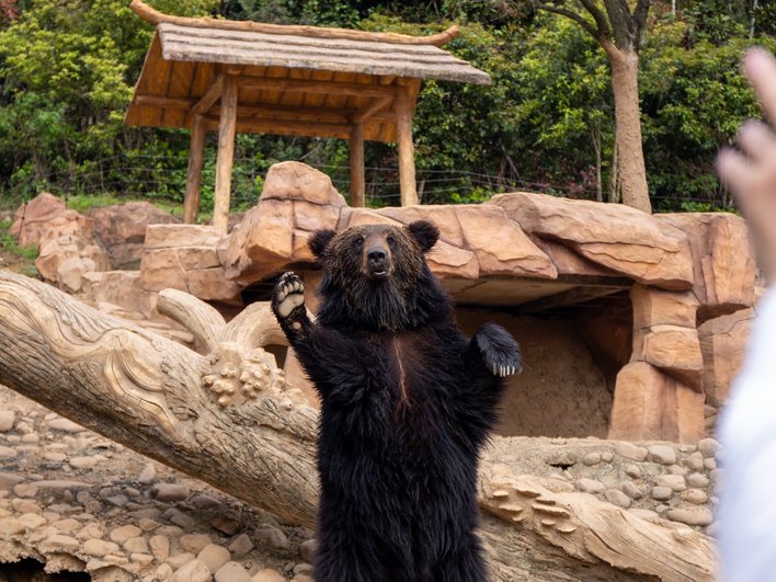
[[[776,287],[757,306],[744,366],[722,410],[718,434],[724,580],[776,580]]]

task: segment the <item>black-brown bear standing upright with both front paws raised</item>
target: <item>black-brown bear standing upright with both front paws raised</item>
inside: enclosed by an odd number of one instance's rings
[[[315,320],[297,275],[273,289],[321,399],[318,582],[487,580],[478,456],[521,352],[494,323],[458,330],[425,260],[438,238],[427,220],[318,230]]]

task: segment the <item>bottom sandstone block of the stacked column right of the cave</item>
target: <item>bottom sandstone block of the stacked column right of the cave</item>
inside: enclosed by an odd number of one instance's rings
[[[608,438],[694,443],[704,434],[704,395],[646,362],[619,372]]]

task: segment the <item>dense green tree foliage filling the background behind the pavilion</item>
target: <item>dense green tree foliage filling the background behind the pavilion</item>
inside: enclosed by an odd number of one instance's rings
[[[529,2],[499,0],[155,0],[183,15],[217,15],[412,34],[452,22],[447,49],[493,78],[490,87],[424,82],[414,117],[424,203],[477,202],[533,190],[608,198],[614,112],[609,65],[595,41]],[[763,5],[765,4],[765,5]],[[653,1],[640,35],[639,95],[650,197],[657,210],[730,208],[714,173],[717,149],[756,116],[739,60],[746,47],[776,48],[773,7],[728,0]],[[126,0],[0,2],[0,197],[49,189],[181,199],[186,132],[123,125],[152,28]],[[242,135],[232,182],[250,205],[269,166],[298,159],[347,190],[347,145]],[[215,150],[205,160],[212,191]],[[396,151],[367,144],[367,199],[396,204]]]

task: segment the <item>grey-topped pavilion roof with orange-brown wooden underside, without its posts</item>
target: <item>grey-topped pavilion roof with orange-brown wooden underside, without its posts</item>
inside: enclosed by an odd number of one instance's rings
[[[341,137],[363,123],[364,138],[396,140],[400,84],[421,79],[489,83],[490,77],[443,50],[450,28],[432,37],[311,26],[168,16],[138,0],[157,24],[128,125],[191,127],[193,114],[218,121],[225,76],[238,82],[237,130]]]

